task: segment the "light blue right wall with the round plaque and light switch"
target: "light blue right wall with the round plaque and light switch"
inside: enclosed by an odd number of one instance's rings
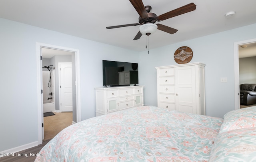
[[[256,38],[256,24],[220,32],[140,52],[140,83],[144,84],[144,103],[157,106],[157,66],[175,65],[174,52],[181,46],[193,50],[190,62],[202,62],[205,67],[206,115],[223,117],[234,110],[234,42]],[[170,39],[172,36],[170,35]],[[220,83],[227,77],[227,83]]]

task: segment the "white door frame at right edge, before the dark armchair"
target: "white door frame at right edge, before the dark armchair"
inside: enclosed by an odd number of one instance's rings
[[[239,46],[248,43],[254,43],[256,39],[234,42],[234,86],[235,86],[235,110],[240,108],[240,90],[239,90]]]

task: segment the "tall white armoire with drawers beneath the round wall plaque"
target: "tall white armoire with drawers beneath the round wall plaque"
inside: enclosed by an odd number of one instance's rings
[[[202,63],[156,67],[158,107],[205,115]]]

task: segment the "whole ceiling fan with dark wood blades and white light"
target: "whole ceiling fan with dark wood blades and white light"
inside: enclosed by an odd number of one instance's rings
[[[135,36],[135,38],[133,40],[140,39],[142,34],[149,36],[156,29],[162,30],[162,31],[170,33],[170,34],[174,34],[178,31],[177,29],[174,29],[169,26],[162,25],[162,24],[154,24],[154,23],[196,10],[196,5],[194,3],[190,3],[190,4],[187,4],[180,8],[176,8],[175,10],[172,10],[170,12],[166,12],[165,14],[162,14],[160,16],[157,16],[156,14],[150,12],[150,10],[152,9],[151,6],[144,6],[142,0],[130,0],[130,2],[132,3],[132,6],[134,6],[135,10],[140,15],[139,23],[108,26],[106,28],[113,29],[113,28],[121,28],[121,27],[126,27],[126,26],[142,25],[142,26],[140,26],[140,31],[138,32],[138,34]],[[151,28],[147,27],[147,26],[151,26],[153,29],[150,30]],[[146,30],[143,31],[143,28]]]

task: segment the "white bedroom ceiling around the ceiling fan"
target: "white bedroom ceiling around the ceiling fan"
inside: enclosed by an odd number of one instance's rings
[[[256,0],[142,0],[151,12],[164,14],[191,2],[196,10],[158,22],[178,29],[175,34],[157,30],[149,36],[150,48],[256,23]],[[225,14],[235,11],[231,18]],[[133,40],[139,26],[106,29],[138,23],[129,0],[1,0],[0,17],[81,38],[144,51],[146,36]]]

